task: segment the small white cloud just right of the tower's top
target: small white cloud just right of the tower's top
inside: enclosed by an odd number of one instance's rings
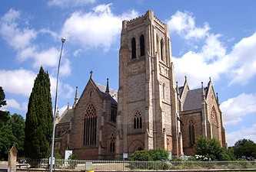
[[[171,33],[176,32],[185,39],[204,38],[208,35],[210,27],[207,23],[202,28],[195,25],[194,17],[191,13],[176,11],[175,15],[167,21]]]

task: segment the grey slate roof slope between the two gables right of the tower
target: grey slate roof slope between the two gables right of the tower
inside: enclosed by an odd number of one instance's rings
[[[188,90],[185,102],[183,105],[183,111],[201,109],[201,89],[191,89]]]

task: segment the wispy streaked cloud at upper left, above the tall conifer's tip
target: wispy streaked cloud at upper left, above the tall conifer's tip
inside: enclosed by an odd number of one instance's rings
[[[40,48],[33,44],[38,33],[47,33],[55,36],[53,31],[48,29],[41,29],[35,31],[32,28],[22,28],[18,24],[20,19],[20,12],[10,9],[0,19],[0,35],[2,38],[17,51],[18,60],[25,61],[28,59],[33,60],[33,67],[57,67],[59,50],[55,47],[40,50]],[[65,58],[65,57],[63,57]],[[68,75],[71,73],[70,62],[65,59],[65,67],[62,67],[62,73]],[[69,65],[69,66],[68,66]]]

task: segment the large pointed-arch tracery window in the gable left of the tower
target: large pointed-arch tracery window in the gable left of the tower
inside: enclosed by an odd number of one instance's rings
[[[97,115],[96,109],[92,104],[89,104],[85,112],[84,122],[84,145],[95,146],[97,135]]]

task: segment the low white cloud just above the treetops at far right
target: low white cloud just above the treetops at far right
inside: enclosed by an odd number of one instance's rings
[[[256,142],[256,124],[247,128],[242,127],[237,131],[229,132],[227,134],[228,146],[233,146],[236,141],[243,138]]]

